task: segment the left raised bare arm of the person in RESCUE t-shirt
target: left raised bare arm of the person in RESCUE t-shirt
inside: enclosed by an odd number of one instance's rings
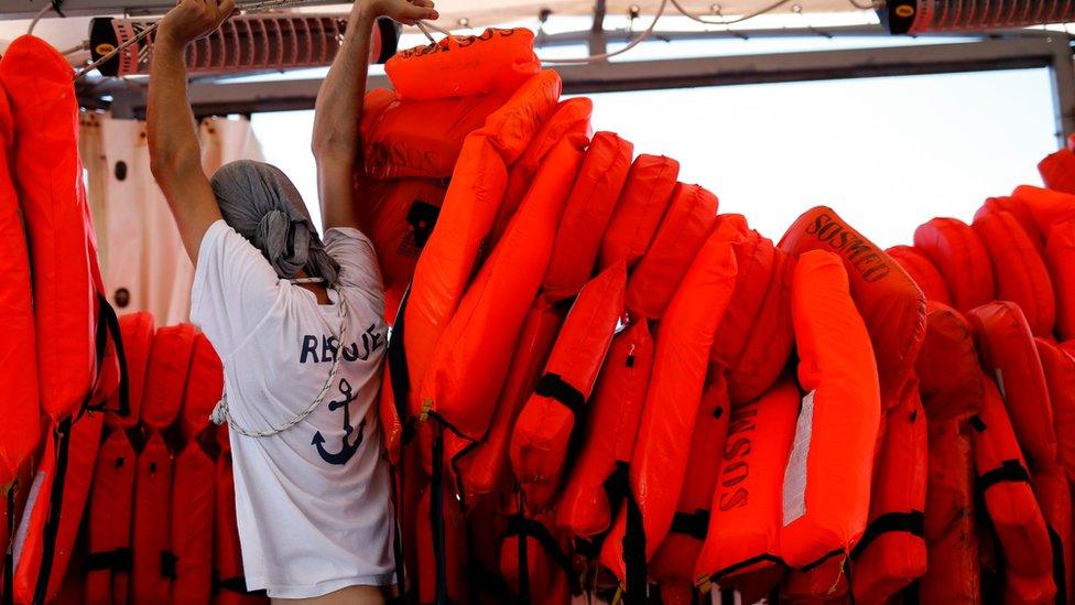
[[[220,208],[202,171],[197,129],[186,98],[186,46],[234,11],[234,0],[181,0],[164,15],[153,44],[145,111],[150,170],[195,263],[202,237],[220,219]]]

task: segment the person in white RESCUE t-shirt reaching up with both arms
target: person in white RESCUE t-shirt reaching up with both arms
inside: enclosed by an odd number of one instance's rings
[[[180,0],[150,73],[150,164],[195,263],[192,321],[217,349],[247,587],[270,597],[383,603],[395,561],[387,461],[373,402],[388,329],[355,197],[374,20],[436,19],[431,0],[360,0],[317,95],[313,151],[324,244],[278,169],[202,172],[185,96],[186,45],[234,0]]]

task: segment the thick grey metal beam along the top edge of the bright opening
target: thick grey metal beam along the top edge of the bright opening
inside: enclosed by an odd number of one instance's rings
[[[1065,132],[1075,130],[1075,66],[1057,68],[1066,39],[1013,37],[957,44],[930,44],[884,48],[817,51],[673,61],[602,62],[557,67],[564,91],[572,94],[730,86],[778,82],[805,82],[856,77],[947,74],[1053,67]],[[1068,61],[1069,61],[1069,54]],[[1063,82],[1062,82],[1063,80]],[[93,83],[90,83],[93,84]],[[371,76],[369,87],[388,87],[384,76]],[[249,114],[311,109],[319,79],[263,83],[193,83],[189,88],[195,114]],[[116,105],[130,116],[144,114],[144,80],[126,89],[108,88]],[[1060,127],[1058,127],[1060,128]]]

